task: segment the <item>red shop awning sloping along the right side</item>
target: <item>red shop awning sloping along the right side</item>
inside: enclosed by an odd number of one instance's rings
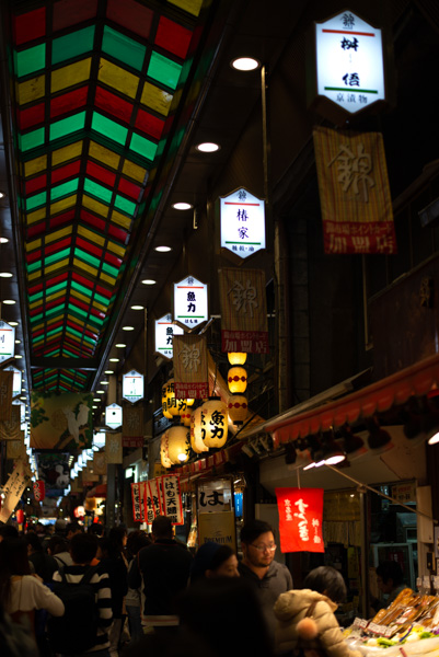
[[[272,434],[278,446],[390,411],[392,406],[406,403],[412,395],[426,395],[438,383],[439,355],[436,354],[344,397],[304,412],[298,410],[294,413],[293,407],[255,427],[251,434]]]

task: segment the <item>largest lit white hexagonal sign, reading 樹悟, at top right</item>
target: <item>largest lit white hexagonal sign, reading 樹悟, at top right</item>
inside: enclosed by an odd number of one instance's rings
[[[326,99],[355,114],[385,101],[381,30],[349,10],[314,23],[314,30],[317,103]]]

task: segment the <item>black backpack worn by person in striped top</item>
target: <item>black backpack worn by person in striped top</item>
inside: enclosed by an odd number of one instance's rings
[[[66,579],[63,567],[59,569],[61,581],[54,581],[53,591],[65,604],[62,616],[50,616],[47,622],[49,644],[55,653],[76,655],[92,648],[96,643],[99,609],[95,588],[90,584],[96,567],[91,567],[79,583]]]

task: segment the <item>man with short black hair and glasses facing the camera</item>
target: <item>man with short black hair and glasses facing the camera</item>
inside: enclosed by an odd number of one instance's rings
[[[255,585],[268,630],[274,636],[276,618],[273,608],[280,593],[292,589],[291,574],[287,566],[274,561],[276,543],[268,522],[251,520],[243,526],[240,535],[243,560],[238,569],[241,577]]]

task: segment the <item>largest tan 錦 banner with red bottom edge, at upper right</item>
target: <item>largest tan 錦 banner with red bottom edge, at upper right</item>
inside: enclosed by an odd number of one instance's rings
[[[396,253],[380,132],[313,130],[325,253]]]

